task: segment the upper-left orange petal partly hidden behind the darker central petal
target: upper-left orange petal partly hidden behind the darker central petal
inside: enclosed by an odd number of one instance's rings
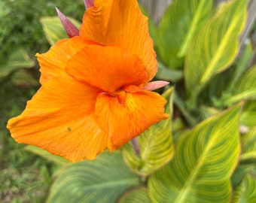
[[[53,45],[47,53],[37,53],[36,56],[41,66],[40,83],[43,84],[59,74],[66,74],[65,67],[70,57],[88,43],[80,37],[62,39]]]

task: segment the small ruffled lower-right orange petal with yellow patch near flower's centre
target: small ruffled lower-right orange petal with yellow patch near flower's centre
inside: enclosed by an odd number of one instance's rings
[[[123,104],[118,102],[118,97],[99,94],[96,100],[96,118],[102,129],[109,133],[110,150],[120,148],[154,123],[169,117],[164,114],[166,100],[156,92],[126,92]]]

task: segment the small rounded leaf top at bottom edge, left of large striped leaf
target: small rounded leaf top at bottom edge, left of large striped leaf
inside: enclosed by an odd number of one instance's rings
[[[148,189],[145,187],[139,187],[131,189],[121,196],[118,203],[151,203],[148,197]]]

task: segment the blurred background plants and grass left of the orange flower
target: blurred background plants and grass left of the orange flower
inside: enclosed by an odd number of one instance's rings
[[[35,53],[50,44],[40,19],[55,7],[82,19],[83,0],[0,0],[0,202],[44,202],[56,165],[17,144],[6,129],[39,87]]]

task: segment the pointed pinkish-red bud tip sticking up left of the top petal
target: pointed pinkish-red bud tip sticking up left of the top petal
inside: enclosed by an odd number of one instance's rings
[[[58,8],[56,8],[56,11],[63,28],[65,29],[67,35],[69,35],[69,38],[78,36],[79,30],[76,28],[76,26],[64,14],[62,14]]]

